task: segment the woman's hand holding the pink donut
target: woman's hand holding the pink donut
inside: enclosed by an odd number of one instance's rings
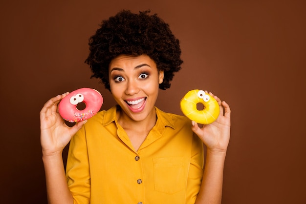
[[[68,127],[63,118],[57,112],[57,104],[68,92],[58,95],[44,104],[40,112],[41,120],[41,145],[44,156],[62,154],[63,149],[69,143],[73,135],[81,129],[87,121],[76,123]]]

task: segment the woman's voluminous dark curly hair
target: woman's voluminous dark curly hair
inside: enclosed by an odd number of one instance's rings
[[[109,63],[119,55],[148,55],[157,70],[164,71],[160,89],[170,88],[174,73],[181,69],[179,41],[170,30],[169,24],[149,15],[150,10],[131,13],[123,10],[109,20],[103,20],[95,35],[89,38],[89,55],[85,61],[92,71],[91,78],[98,78],[109,87]]]

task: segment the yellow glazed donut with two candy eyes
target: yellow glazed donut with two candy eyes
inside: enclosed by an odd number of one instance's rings
[[[204,109],[197,110],[197,103],[202,103]],[[189,91],[182,98],[180,108],[187,118],[200,124],[209,124],[216,121],[220,113],[216,99],[198,89]]]

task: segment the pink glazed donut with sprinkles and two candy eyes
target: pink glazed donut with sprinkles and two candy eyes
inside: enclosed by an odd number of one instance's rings
[[[77,104],[84,102],[86,108],[79,110]],[[99,91],[92,88],[80,88],[69,93],[59,104],[60,115],[68,122],[85,121],[98,113],[103,103]]]

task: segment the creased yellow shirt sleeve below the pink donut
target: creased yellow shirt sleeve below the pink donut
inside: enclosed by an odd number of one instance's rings
[[[84,126],[70,141],[66,178],[74,204],[89,204],[90,173]]]

